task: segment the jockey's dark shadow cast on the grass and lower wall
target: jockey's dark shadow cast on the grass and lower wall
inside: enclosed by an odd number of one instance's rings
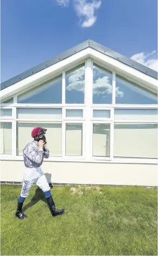
[[[50,189],[53,188],[52,183],[51,183],[51,174],[45,173],[45,176],[46,176],[47,182],[49,182]],[[47,204],[44,192],[42,191],[42,189],[40,189],[38,187],[36,189],[35,195],[31,199],[31,202],[29,202],[28,205],[25,205],[23,207],[23,211],[26,211],[26,209],[32,207],[33,205],[36,205],[37,202],[40,201],[40,200],[42,200],[43,202],[45,202]]]

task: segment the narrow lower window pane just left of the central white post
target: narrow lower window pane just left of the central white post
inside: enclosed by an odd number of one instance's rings
[[[83,155],[83,124],[66,123],[66,155]]]

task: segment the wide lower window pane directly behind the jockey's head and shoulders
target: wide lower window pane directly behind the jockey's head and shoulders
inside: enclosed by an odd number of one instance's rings
[[[17,155],[23,155],[24,147],[33,140],[31,131],[35,126],[47,128],[46,141],[50,149],[50,156],[62,155],[62,123],[17,122]]]

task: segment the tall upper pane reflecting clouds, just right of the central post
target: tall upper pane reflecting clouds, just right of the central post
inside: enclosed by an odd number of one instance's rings
[[[93,104],[112,104],[112,72],[93,64]]]

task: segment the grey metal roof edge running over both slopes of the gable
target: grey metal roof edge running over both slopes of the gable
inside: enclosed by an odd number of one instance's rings
[[[41,71],[41,70],[43,70],[47,67],[50,67],[51,65],[53,65],[57,62],[60,62],[60,61],[64,60],[65,58],[70,57],[70,56],[76,54],[77,52],[79,52],[81,50],[84,50],[86,48],[89,48],[89,47],[94,49],[94,50],[97,50],[99,52],[102,52],[105,55],[107,55],[109,57],[112,57],[115,60],[118,60],[118,61],[136,69],[136,70],[139,70],[139,71],[141,71],[142,73],[145,73],[148,76],[151,76],[151,77],[157,79],[157,72],[155,70],[150,69],[150,68],[146,67],[145,65],[142,65],[138,62],[135,62],[135,61],[131,60],[130,58],[125,57],[125,56],[119,54],[118,52],[113,51],[113,50],[105,47],[104,45],[96,43],[92,40],[87,40],[87,41],[85,41],[81,44],[78,44],[77,46],[63,52],[62,54],[60,54],[56,57],[53,57],[50,60],[47,60],[47,61],[37,65],[36,67],[33,67],[33,68],[15,76],[15,77],[12,77],[9,80],[6,80],[5,82],[1,83],[1,90],[11,86],[12,84],[15,84],[15,83],[23,80],[26,77],[29,77],[33,74],[36,74],[39,71]]]

